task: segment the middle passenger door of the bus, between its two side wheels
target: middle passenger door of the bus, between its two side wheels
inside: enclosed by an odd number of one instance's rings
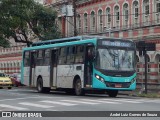
[[[51,50],[51,64],[50,64],[50,86],[56,87],[57,83],[57,55],[58,50]]]

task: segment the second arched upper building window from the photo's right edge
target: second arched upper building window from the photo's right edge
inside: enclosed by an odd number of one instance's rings
[[[149,24],[149,0],[143,1],[143,25]]]

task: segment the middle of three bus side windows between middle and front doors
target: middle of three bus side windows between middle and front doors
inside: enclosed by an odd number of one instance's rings
[[[67,64],[74,63],[75,46],[67,47]]]

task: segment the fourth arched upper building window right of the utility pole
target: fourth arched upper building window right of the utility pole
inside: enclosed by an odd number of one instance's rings
[[[99,32],[103,32],[103,14],[102,14],[102,10],[98,11],[98,28],[99,28]]]

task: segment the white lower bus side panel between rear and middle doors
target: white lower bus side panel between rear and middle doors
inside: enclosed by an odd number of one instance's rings
[[[50,87],[50,67],[49,66],[36,66],[35,68],[36,78],[41,76],[43,79],[43,87]]]

